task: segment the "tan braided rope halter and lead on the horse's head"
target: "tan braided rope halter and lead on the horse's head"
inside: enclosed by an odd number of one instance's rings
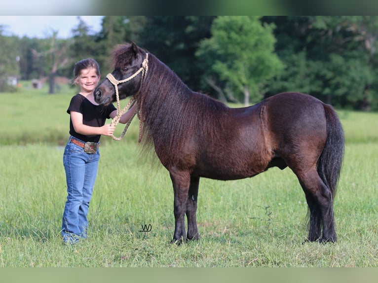
[[[139,91],[136,94],[134,94],[133,97],[130,99],[129,103],[125,107],[123,107],[123,109],[121,110],[121,107],[120,107],[120,104],[119,104],[118,84],[133,79],[140,72],[142,72],[142,78],[141,78],[141,83],[142,83],[142,80],[146,76],[147,71],[149,69],[149,66],[148,66],[149,59],[148,58],[149,58],[149,54],[146,53],[146,58],[145,58],[145,60],[143,60],[142,67],[139,68],[138,71],[136,71],[134,74],[132,74],[128,78],[125,78],[123,80],[117,80],[116,78],[114,78],[114,76],[111,73],[108,73],[108,75],[106,76],[107,79],[109,79],[109,81],[114,85],[115,97],[116,97],[116,100],[117,100],[117,115],[113,118],[112,123],[111,123],[111,125],[113,125],[114,127],[117,126],[117,124],[119,123],[119,119],[121,118],[121,116],[124,113],[126,113],[127,109],[129,107],[132,107],[132,106],[135,105],[135,103],[137,102],[138,94],[139,94]],[[122,134],[119,138],[116,138],[114,135],[112,135],[113,140],[120,141],[123,138],[123,136],[126,134],[127,129],[129,128],[131,121],[133,120],[135,114],[138,114],[138,119],[140,121],[140,124],[139,124],[139,140],[138,141],[140,142],[142,140],[142,120],[141,120],[140,109],[137,109],[136,112],[131,116],[129,121],[126,123],[125,128],[123,129],[123,132],[122,132]]]

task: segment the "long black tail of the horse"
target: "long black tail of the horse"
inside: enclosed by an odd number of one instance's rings
[[[332,106],[324,105],[324,111],[327,121],[327,140],[318,160],[317,171],[323,182],[330,188],[334,198],[344,155],[344,133]]]

